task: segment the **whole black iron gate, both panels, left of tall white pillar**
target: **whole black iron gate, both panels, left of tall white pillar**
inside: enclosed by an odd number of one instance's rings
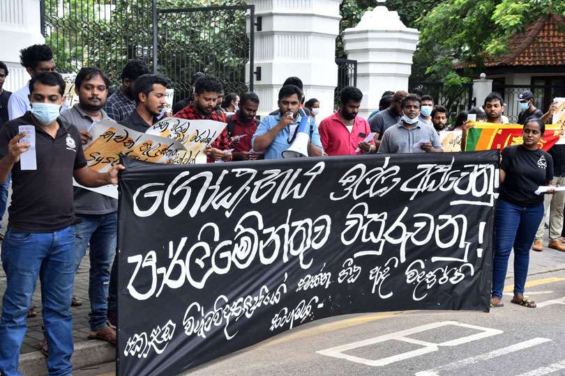
[[[175,100],[188,95],[190,76],[225,80],[225,90],[253,88],[255,6],[168,9],[168,0],[41,0],[41,30],[57,69],[96,66],[119,84],[123,65],[138,58],[171,81]],[[154,27],[156,26],[156,27]]]

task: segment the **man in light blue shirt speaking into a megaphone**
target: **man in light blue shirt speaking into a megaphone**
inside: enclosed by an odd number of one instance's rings
[[[280,111],[265,116],[257,127],[251,144],[256,152],[265,153],[265,159],[322,156],[322,142],[315,120],[300,108],[301,95],[297,86],[280,88]]]

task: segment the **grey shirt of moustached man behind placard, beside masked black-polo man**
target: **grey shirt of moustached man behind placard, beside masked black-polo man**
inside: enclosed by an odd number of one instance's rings
[[[110,119],[104,110],[102,112],[102,120]],[[63,111],[61,118],[64,122],[74,125],[77,130],[88,130],[93,120],[86,115],[78,104],[72,109]],[[88,159],[88,157],[86,158]],[[118,210],[118,201],[103,194],[98,194],[88,189],[74,187],[75,192],[75,213],[77,214],[109,214]]]

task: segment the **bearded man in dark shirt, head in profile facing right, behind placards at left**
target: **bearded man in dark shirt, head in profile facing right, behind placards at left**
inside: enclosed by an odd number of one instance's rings
[[[121,125],[137,132],[145,133],[151,125],[159,121],[158,117],[165,108],[167,79],[160,75],[142,75],[135,80],[135,111]]]

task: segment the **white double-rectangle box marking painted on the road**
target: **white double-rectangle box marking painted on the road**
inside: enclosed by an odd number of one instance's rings
[[[448,325],[453,325],[455,327],[476,329],[479,330],[480,332],[477,334],[472,334],[470,336],[464,336],[461,338],[456,338],[454,340],[449,340],[443,343],[431,343],[424,340],[415,340],[413,338],[407,337],[411,334],[416,334],[431,329],[437,329],[439,327],[446,327]],[[347,361],[352,361],[354,363],[362,363],[362,364],[366,364],[367,366],[381,367],[391,363],[395,363],[397,361],[410,359],[412,357],[419,357],[420,355],[423,354],[435,352],[439,350],[439,346],[457,346],[457,345],[461,345],[462,343],[469,343],[474,340],[495,336],[501,333],[503,333],[503,331],[499,329],[477,327],[476,325],[462,324],[460,322],[455,322],[455,321],[433,322],[432,324],[421,325],[420,327],[414,327],[402,331],[396,331],[395,333],[386,334],[384,336],[369,338],[366,340],[360,340],[354,343],[347,343],[346,345],[331,347],[325,350],[319,350],[317,351],[317,354],[326,355],[326,357],[345,359]],[[386,357],[382,359],[365,359],[365,358],[354,357],[353,355],[345,354],[346,351],[353,350],[359,347],[365,347],[368,345],[374,345],[375,343],[382,343],[387,340],[398,340],[405,343],[412,343],[414,345],[421,345],[422,347],[416,350],[403,352],[401,354],[396,354],[391,357]]]

